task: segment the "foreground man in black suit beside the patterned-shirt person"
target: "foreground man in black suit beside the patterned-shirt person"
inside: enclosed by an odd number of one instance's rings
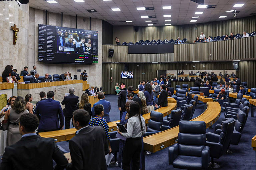
[[[78,109],[73,113],[73,124],[78,130],[69,140],[72,163],[67,170],[100,169],[107,170],[105,155],[108,153],[107,136],[101,126],[88,126],[89,113]]]

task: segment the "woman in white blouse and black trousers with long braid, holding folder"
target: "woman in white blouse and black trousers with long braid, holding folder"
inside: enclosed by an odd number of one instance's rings
[[[130,104],[127,132],[123,133],[117,129],[118,133],[127,137],[123,151],[122,169],[130,169],[130,161],[133,162],[133,170],[139,170],[140,152],[142,149],[141,136],[146,132],[145,119],[140,116],[140,106],[137,102]]]

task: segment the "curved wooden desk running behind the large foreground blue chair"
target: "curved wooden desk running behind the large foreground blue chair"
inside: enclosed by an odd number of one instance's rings
[[[206,128],[212,126],[220,117],[220,104],[218,102],[207,102],[207,109],[204,113],[191,121],[204,121]],[[179,126],[174,128],[146,136],[144,140],[144,150],[150,152],[157,152],[164,149],[178,141]]]

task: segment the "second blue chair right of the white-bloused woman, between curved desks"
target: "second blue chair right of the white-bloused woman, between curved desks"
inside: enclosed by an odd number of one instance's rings
[[[178,126],[181,120],[181,115],[181,109],[172,110],[169,117],[167,117],[167,120],[163,121],[162,131]]]

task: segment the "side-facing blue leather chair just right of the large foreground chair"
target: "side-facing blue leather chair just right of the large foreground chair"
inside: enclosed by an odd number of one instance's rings
[[[194,122],[194,121],[192,121]],[[222,132],[218,135],[215,133],[206,133],[206,145],[210,147],[210,155],[212,161],[210,163],[211,168],[218,168],[219,165],[214,163],[214,158],[219,158],[223,155],[229,147],[231,137],[233,135],[235,126],[234,118],[229,118],[221,125]]]

